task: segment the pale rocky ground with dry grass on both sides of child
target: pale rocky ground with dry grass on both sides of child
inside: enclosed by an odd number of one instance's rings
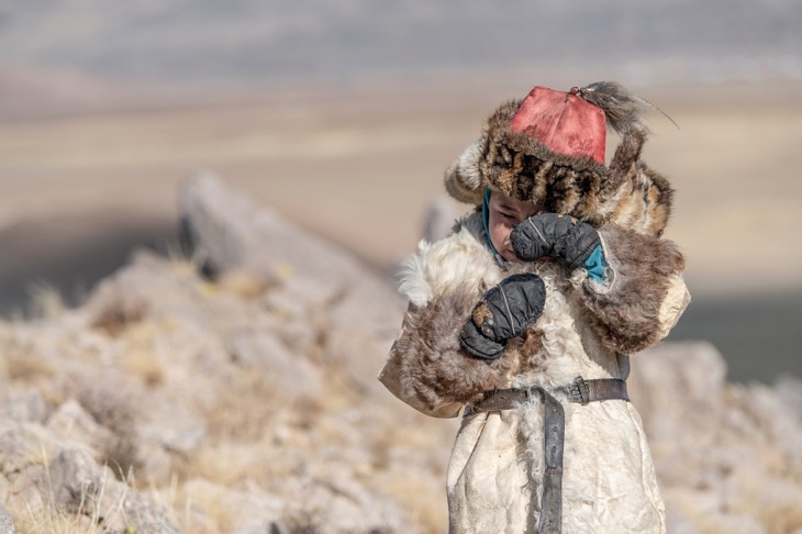
[[[0,532],[445,532],[458,421],[376,380],[393,281],[209,175],[179,205],[183,251],[0,323]],[[802,382],[689,342],[630,387],[670,532],[802,533]]]

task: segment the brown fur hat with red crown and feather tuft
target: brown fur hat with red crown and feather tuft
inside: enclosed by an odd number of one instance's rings
[[[490,188],[594,226],[660,235],[672,190],[641,160],[648,130],[639,115],[648,105],[612,81],[570,92],[535,87],[490,115],[479,140],[446,170],[446,190],[480,204]],[[609,167],[606,126],[621,135]]]

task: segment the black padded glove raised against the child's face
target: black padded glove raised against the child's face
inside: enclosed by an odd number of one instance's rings
[[[584,264],[601,240],[593,226],[572,216],[538,213],[512,230],[510,243],[524,262],[553,256],[562,258],[568,269],[573,270]]]

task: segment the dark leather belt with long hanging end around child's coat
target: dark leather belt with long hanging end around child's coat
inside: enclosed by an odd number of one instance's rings
[[[577,377],[573,383],[553,390],[538,386],[527,389],[497,389],[465,409],[464,416],[477,412],[497,412],[516,408],[533,397],[543,402],[543,442],[546,470],[543,475],[543,499],[537,532],[558,534],[562,530],[562,448],[566,436],[566,414],[555,394],[564,396],[570,402],[587,404],[603,400],[630,400],[626,381],[620,378],[599,378],[584,380]],[[536,494],[533,493],[534,500]],[[532,510],[534,510],[534,503]]]

